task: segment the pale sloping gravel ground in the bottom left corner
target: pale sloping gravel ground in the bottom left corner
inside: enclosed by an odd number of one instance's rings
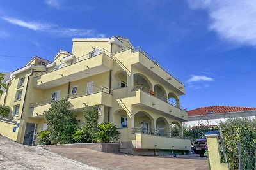
[[[0,135],[0,169],[97,169]]]

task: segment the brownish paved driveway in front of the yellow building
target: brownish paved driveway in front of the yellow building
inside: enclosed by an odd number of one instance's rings
[[[52,147],[47,148],[47,150],[62,155],[63,157],[67,157],[68,159],[77,160],[78,162],[100,169],[209,169],[207,160],[205,160],[205,158],[195,159],[193,158],[195,155],[186,158],[141,157],[125,154],[102,153],[85,148]]]

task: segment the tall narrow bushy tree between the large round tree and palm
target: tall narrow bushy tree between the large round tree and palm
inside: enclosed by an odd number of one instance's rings
[[[98,106],[85,105],[83,108],[84,125],[82,131],[86,142],[92,142],[93,136],[97,131],[99,111]]]

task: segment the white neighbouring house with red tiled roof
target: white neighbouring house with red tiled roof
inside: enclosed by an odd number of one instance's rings
[[[256,108],[237,106],[208,106],[188,111],[188,122],[190,127],[200,125],[218,125],[218,122],[225,122],[227,118],[247,117],[255,118]]]

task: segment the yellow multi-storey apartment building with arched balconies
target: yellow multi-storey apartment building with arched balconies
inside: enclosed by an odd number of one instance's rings
[[[98,123],[119,128],[122,152],[189,150],[190,141],[182,136],[182,122],[188,120],[180,106],[184,94],[184,84],[129,39],[75,38],[72,52],[60,50],[53,62],[36,56],[13,72],[0,104],[12,108],[17,125],[0,120],[0,133],[36,145],[36,134],[47,129],[44,111],[65,97],[80,125],[84,104],[99,106]],[[171,134],[171,124],[179,134]]]

